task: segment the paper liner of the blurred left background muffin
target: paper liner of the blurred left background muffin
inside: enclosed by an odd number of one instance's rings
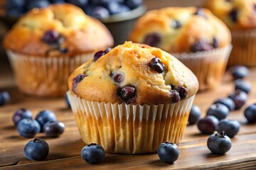
[[[80,64],[92,59],[95,52],[75,57],[38,57],[6,51],[16,84],[25,94],[45,97],[64,96],[68,76]]]

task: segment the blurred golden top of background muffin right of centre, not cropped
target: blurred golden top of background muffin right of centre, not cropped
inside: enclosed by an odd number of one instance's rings
[[[226,47],[230,30],[205,8],[168,7],[148,11],[135,24],[129,40],[166,52],[197,52]]]

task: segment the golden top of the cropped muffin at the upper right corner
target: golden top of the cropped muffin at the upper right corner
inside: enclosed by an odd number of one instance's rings
[[[208,0],[206,7],[231,29],[256,28],[256,0]]]

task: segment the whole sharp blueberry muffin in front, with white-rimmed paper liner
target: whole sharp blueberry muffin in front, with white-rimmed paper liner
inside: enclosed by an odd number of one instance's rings
[[[111,153],[138,154],[181,140],[198,80],[169,53],[124,42],[75,69],[68,86],[85,143],[98,143]]]

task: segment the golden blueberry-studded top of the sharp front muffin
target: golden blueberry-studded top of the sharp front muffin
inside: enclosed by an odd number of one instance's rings
[[[198,91],[196,76],[175,57],[148,45],[124,42],[95,54],[68,79],[73,94],[105,103],[176,103]]]

